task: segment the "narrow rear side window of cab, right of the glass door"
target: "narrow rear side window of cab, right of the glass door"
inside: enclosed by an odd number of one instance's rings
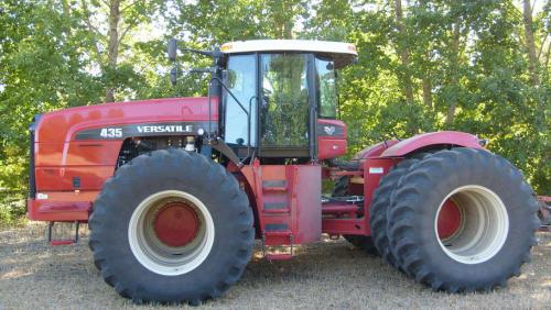
[[[318,111],[324,119],[336,119],[337,117],[337,85],[335,66],[329,57],[317,56],[315,69],[318,89]]]

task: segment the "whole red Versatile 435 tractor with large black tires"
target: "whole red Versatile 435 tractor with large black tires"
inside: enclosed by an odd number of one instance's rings
[[[121,296],[219,297],[256,239],[267,259],[283,261],[322,233],[342,235],[450,292],[505,286],[530,259],[534,193],[477,136],[432,132],[335,159],[347,148],[335,71],[354,63],[354,45],[183,51],[213,57],[193,70],[209,74],[208,97],[72,108],[30,126],[29,218],[50,229],[88,222],[94,262]],[[336,182],[327,197],[324,179]]]

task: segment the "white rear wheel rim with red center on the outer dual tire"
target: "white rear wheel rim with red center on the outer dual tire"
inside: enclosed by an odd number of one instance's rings
[[[455,223],[457,213],[460,220]],[[468,185],[453,190],[442,200],[434,228],[440,246],[447,256],[463,264],[479,264],[494,257],[504,246],[509,217],[494,191]]]

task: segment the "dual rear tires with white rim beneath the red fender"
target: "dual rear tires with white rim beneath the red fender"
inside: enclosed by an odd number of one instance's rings
[[[434,290],[489,291],[529,261],[537,210],[506,159],[453,148],[406,159],[381,178],[371,235],[388,263]]]

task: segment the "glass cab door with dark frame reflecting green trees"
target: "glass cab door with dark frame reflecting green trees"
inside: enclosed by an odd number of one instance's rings
[[[314,157],[312,60],[312,54],[260,54],[260,157]]]

